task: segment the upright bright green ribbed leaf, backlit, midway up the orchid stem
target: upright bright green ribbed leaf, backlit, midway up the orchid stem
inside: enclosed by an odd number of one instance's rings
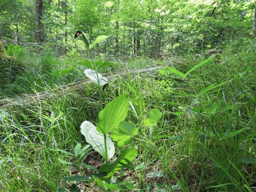
[[[107,134],[123,121],[129,110],[128,95],[122,94],[115,100],[106,104],[105,108],[98,115],[97,131]]]

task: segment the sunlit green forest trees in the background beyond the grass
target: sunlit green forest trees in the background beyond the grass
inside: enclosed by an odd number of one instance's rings
[[[95,49],[104,57],[196,54],[252,36],[254,5],[254,0],[1,0],[0,39],[31,52],[86,54],[82,40],[74,40],[82,30],[91,42],[110,36]]]

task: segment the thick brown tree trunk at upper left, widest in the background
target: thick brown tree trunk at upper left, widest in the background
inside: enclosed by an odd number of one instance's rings
[[[36,0],[36,40],[42,42],[43,0]]]

